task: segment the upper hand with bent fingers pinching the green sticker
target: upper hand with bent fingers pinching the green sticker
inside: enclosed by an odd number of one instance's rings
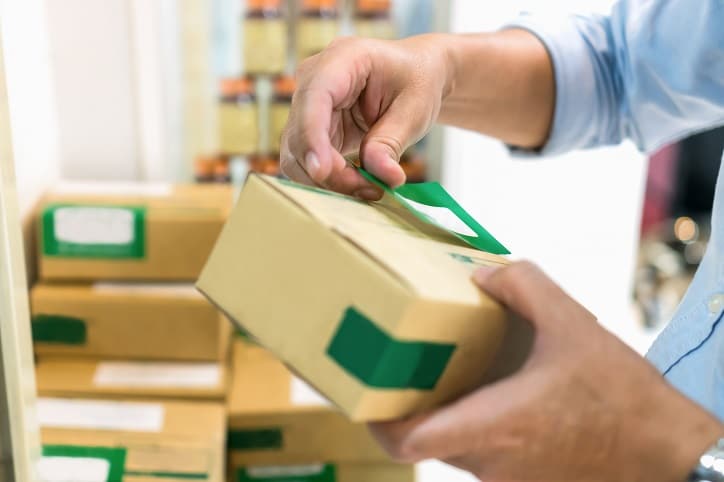
[[[450,90],[447,56],[435,39],[341,38],[303,62],[282,136],[282,171],[379,199],[379,188],[343,157],[359,151],[365,169],[392,187],[403,184],[400,156],[427,133]]]

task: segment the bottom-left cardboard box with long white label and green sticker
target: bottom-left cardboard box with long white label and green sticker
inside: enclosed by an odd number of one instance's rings
[[[225,480],[221,404],[40,398],[37,414],[49,480]]]

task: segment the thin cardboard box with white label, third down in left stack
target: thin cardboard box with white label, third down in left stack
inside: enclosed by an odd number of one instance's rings
[[[42,357],[38,393],[47,397],[223,401],[231,375],[226,362],[132,362]]]

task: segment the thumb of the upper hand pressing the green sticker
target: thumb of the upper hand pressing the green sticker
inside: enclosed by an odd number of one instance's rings
[[[362,167],[390,187],[404,184],[400,158],[425,135],[429,118],[421,112],[419,99],[413,101],[404,94],[395,99],[362,139]]]

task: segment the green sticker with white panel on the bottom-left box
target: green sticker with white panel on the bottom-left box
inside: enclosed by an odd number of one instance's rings
[[[98,477],[104,476],[102,480],[105,482],[123,482],[126,449],[122,447],[44,445],[42,454],[38,464],[41,477],[45,475],[44,471],[48,471],[50,476],[58,478],[60,475],[72,480],[70,477],[78,477],[76,471],[82,471],[84,475],[92,476],[91,480],[99,480]],[[68,473],[59,473],[62,470]],[[78,480],[81,480],[80,477]]]

